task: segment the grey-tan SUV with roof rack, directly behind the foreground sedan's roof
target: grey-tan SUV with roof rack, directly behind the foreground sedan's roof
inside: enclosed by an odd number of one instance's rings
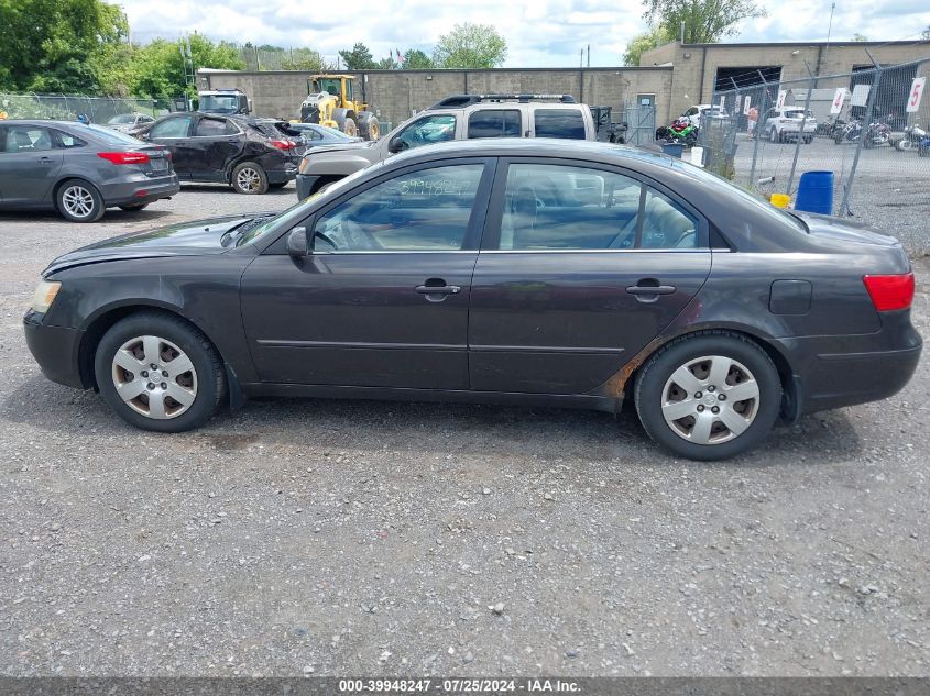
[[[453,95],[376,142],[313,147],[300,162],[297,198],[406,150],[489,137],[595,141],[598,128],[591,109],[570,95]]]

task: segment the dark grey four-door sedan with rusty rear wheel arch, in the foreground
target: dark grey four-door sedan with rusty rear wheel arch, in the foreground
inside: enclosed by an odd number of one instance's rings
[[[72,252],[24,322],[50,379],[147,430],[243,396],[628,399],[666,449],[714,460],[901,389],[912,297],[889,236],[664,155],[524,139],[415,148],[276,216]]]

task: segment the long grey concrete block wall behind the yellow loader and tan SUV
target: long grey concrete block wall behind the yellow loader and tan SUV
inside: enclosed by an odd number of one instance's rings
[[[198,89],[238,87],[252,99],[256,115],[297,118],[311,73],[199,70]],[[572,95],[615,110],[635,106],[637,95],[655,95],[658,120],[668,112],[670,67],[496,70],[374,70],[355,74],[355,92],[371,103],[381,121],[397,125],[413,112],[456,93]]]

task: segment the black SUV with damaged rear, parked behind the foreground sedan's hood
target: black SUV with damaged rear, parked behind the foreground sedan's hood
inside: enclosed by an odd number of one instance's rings
[[[198,112],[166,115],[140,136],[172,152],[182,181],[229,184],[239,194],[286,186],[304,151],[273,123]]]

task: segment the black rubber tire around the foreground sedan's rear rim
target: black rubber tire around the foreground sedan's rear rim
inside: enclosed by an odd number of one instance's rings
[[[709,444],[691,442],[688,438],[692,433],[679,434],[680,422],[687,423],[687,419],[692,418],[691,423],[696,423],[693,417],[686,416],[670,424],[663,415],[666,386],[671,379],[672,373],[689,365],[689,361],[697,362],[703,356],[722,356],[740,363],[755,378],[758,388],[758,397],[753,401],[731,401],[729,404],[731,409],[735,406],[750,409],[754,413],[748,427],[738,434],[734,434],[729,429],[725,433],[718,433],[716,435],[713,435],[713,431],[711,431],[711,437],[716,437],[721,441]],[[724,387],[724,389],[730,388],[732,387]],[[671,389],[674,390],[676,387],[672,386]],[[710,405],[712,399],[720,398],[722,390],[714,390],[716,397],[711,394],[710,389],[707,393],[701,393],[701,397],[698,399],[693,397],[697,391],[688,395],[682,390],[682,396],[686,397],[683,400],[697,402],[696,409],[700,411],[714,407],[727,408],[725,400],[714,401],[713,405]],[[704,400],[708,401],[707,406],[703,404]],[[676,339],[653,355],[636,377],[634,402],[643,428],[653,440],[672,454],[699,461],[723,460],[755,448],[768,435],[780,410],[781,382],[772,358],[756,343],[745,336],[726,331],[709,331]],[[707,417],[701,416],[700,418]],[[713,428],[722,426],[722,421],[718,422],[720,419],[714,419],[713,416],[709,418],[714,422]],[[730,439],[726,439],[727,437]]]

